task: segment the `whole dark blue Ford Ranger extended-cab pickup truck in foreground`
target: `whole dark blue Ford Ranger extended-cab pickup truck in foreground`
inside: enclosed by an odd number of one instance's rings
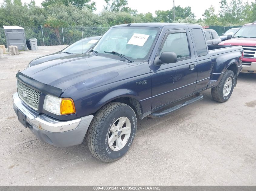
[[[43,142],[81,144],[112,162],[131,147],[137,117],[162,117],[203,98],[227,101],[242,69],[241,46],[207,45],[196,24],[111,27],[89,54],[18,72],[13,108]]]

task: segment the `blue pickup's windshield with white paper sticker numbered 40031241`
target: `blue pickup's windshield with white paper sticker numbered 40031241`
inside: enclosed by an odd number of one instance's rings
[[[94,47],[97,54],[123,60],[145,60],[160,29],[155,27],[116,27],[109,29]]]

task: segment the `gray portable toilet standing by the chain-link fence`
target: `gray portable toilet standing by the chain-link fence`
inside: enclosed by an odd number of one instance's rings
[[[18,26],[4,26],[4,29],[8,50],[11,45],[18,46],[19,50],[27,50],[24,28]]]

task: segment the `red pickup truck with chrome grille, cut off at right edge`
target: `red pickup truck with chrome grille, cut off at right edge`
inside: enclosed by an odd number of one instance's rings
[[[256,73],[256,22],[245,24],[228,39],[219,45],[240,45],[244,48],[241,72]]]

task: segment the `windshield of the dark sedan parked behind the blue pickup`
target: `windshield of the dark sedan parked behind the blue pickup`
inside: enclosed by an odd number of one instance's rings
[[[85,54],[87,53],[92,46],[97,43],[98,40],[96,39],[81,39],[77,42],[71,44],[67,48],[63,49],[62,53],[71,53],[71,54]]]

